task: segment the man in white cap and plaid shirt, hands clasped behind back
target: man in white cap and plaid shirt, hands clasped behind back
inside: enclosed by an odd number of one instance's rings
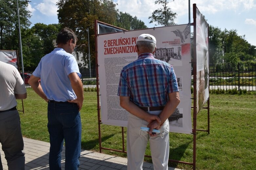
[[[169,158],[168,117],[180,102],[173,67],[155,59],[156,39],[149,34],[137,38],[138,59],[123,68],[118,96],[129,112],[127,129],[127,169],[142,170],[149,141],[154,169],[167,170]],[[141,131],[141,127],[149,128]],[[152,132],[153,129],[160,133]],[[159,132],[158,131],[158,132]]]

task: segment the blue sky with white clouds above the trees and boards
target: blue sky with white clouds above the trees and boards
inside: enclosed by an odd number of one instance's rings
[[[35,23],[58,23],[57,0],[30,0],[28,9],[32,12],[30,21]],[[149,27],[148,17],[152,12],[161,8],[155,5],[155,0],[113,0],[117,8],[122,12],[128,12],[132,16],[144,21]],[[176,24],[188,23],[188,0],[169,0],[168,6],[177,13]],[[224,30],[236,29],[239,35],[245,35],[246,40],[256,46],[256,0],[190,0],[191,23],[193,22],[192,7],[197,8],[205,15],[207,22]],[[127,8],[128,7],[128,8]],[[158,25],[160,26],[160,25]]]

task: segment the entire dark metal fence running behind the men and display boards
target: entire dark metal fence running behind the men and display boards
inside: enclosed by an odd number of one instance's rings
[[[96,88],[96,70],[80,68],[82,74],[81,80],[84,88]],[[25,84],[28,84],[28,79],[31,73],[25,73]],[[193,83],[193,82],[192,82]],[[193,84],[192,84],[193,85]],[[209,67],[209,86],[210,89],[234,89],[256,91],[256,64],[246,63],[224,63]]]

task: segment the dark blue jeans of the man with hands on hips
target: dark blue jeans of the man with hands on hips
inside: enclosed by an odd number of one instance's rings
[[[81,152],[81,117],[76,103],[48,103],[50,170],[61,170],[61,151],[65,140],[65,170],[77,170]]]

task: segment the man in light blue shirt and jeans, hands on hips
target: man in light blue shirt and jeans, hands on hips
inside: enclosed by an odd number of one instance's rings
[[[65,140],[65,170],[77,170],[81,152],[83,84],[76,59],[75,33],[65,27],[57,36],[57,48],[45,55],[29,79],[34,91],[48,102],[50,136],[49,168],[61,170],[61,151]],[[41,84],[38,80],[41,79]]]

